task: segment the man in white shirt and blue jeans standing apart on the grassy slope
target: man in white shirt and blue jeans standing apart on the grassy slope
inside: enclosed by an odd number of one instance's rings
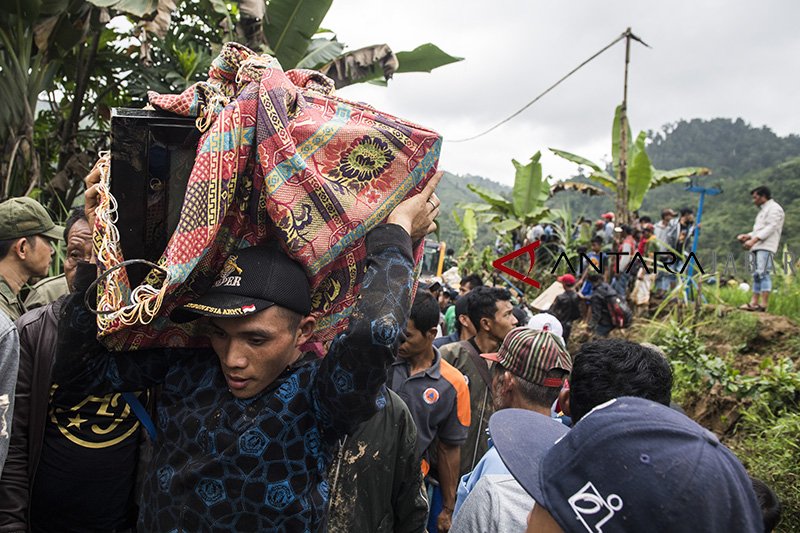
[[[768,187],[760,186],[750,191],[753,203],[758,206],[756,222],[753,231],[742,233],[736,238],[745,249],[750,250],[751,264],[753,265],[753,297],[750,303],[741,306],[747,311],[766,311],[769,303],[769,293],[772,290],[770,271],[773,265],[773,256],[778,251],[783,230],[784,213],[778,202],[772,199]],[[759,295],[761,303],[759,304]]]

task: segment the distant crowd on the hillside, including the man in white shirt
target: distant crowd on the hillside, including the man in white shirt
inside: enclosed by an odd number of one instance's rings
[[[759,213],[752,232],[737,236],[750,252],[748,264],[753,276],[752,299],[741,309],[763,312],[772,290],[770,274],[785,215],[768,187],[756,187],[750,194]],[[577,320],[585,320],[596,337],[606,337],[615,327],[627,326],[634,314],[647,312],[651,298],[660,302],[672,293],[688,263],[697,262],[691,254],[699,226],[691,208],[679,212],[665,208],[656,223],[638,213],[634,213],[631,224],[616,225],[615,218],[614,213],[603,213],[591,233],[584,232],[591,222],[581,218],[574,229],[573,239],[583,234],[590,245],[577,248],[578,275],[557,278],[564,292],[549,308],[562,322],[565,339],[569,339]],[[517,245],[546,238],[548,227],[533,226]]]

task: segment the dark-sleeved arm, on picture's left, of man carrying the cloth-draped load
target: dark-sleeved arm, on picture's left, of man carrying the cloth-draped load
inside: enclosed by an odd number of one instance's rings
[[[96,274],[93,264],[77,266],[76,291],[67,297],[59,319],[53,382],[64,389],[94,394],[134,392],[162,383],[172,362],[189,351],[108,351],[97,340],[95,316],[84,304]]]

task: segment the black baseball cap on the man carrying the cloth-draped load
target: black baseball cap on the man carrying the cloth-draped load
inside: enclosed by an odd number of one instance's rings
[[[212,287],[196,300],[175,309],[173,322],[201,316],[236,318],[273,305],[302,316],[311,312],[306,273],[276,242],[237,250],[228,257]]]

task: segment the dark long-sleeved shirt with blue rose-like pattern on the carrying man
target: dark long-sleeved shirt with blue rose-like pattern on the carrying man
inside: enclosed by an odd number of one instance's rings
[[[327,356],[303,358],[247,400],[228,391],[211,350],[105,351],[84,293],[71,297],[54,371],[61,387],[102,393],[162,385],[140,531],[321,529],[335,443],[376,412],[409,314],[408,234],[378,226],[367,236],[367,254],[348,330]],[[80,281],[86,270],[76,285],[88,285]]]

